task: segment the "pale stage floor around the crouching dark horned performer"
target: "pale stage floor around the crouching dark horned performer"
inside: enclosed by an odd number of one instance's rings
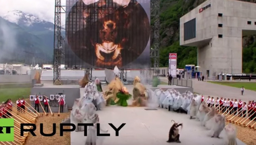
[[[187,114],[179,114],[167,109],[145,110],[146,107],[109,106],[97,111],[103,129],[108,129],[110,136],[104,138],[102,145],[224,145],[223,132],[221,139],[208,136],[208,130],[200,126],[195,119],[190,120]],[[183,123],[180,130],[181,143],[167,143],[169,129],[173,122]],[[73,123],[71,119],[71,123]],[[126,125],[115,136],[115,131],[108,125],[119,127]],[[71,132],[71,145],[84,145],[84,132]],[[237,139],[238,145],[246,145]]]

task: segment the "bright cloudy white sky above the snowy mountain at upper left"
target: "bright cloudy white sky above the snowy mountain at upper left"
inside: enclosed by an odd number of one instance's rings
[[[61,0],[61,5],[66,5],[66,0]],[[21,10],[26,14],[54,23],[55,0],[0,0],[0,6],[0,16],[8,11]],[[61,25],[64,25],[65,14],[62,14],[61,19]]]

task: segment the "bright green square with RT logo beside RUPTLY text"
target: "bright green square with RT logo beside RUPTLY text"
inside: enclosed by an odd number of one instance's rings
[[[0,141],[14,141],[14,119],[0,119]]]

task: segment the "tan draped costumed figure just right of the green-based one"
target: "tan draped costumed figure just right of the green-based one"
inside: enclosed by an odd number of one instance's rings
[[[132,106],[147,106],[146,88],[142,83],[140,83],[140,79],[138,76],[135,77],[133,83],[134,83],[134,88],[133,88]]]

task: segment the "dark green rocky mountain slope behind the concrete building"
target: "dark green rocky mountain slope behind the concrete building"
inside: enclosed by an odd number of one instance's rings
[[[197,65],[197,48],[179,46],[179,18],[206,0],[161,0],[160,67],[168,67],[169,53],[178,53],[178,68]],[[256,0],[241,0],[256,3]],[[243,38],[243,71],[256,72],[255,36]]]

